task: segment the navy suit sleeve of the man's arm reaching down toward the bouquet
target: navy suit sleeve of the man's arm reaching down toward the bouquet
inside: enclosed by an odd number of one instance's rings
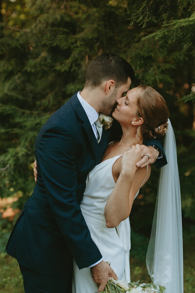
[[[40,138],[36,156],[50,208],[78,268],[82,269],[96,263],[102,256],[76,199],[77,148],[72,134],[56,125]]]

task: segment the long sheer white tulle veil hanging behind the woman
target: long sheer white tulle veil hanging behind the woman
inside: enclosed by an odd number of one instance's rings
[[[183,245],[176,140],[170,120],[164,149],[168,164],[161,168],[146,264],[152,281],[166,293],[183,293]]]

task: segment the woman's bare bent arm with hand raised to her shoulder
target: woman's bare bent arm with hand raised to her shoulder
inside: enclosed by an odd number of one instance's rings
[[[113,173],[117,172],[119,176],[104,209],[108,228],[117,227],[129,216],[134,197],[146,177],[147,167],[136,167],[137,158],[140,156],[139,150],[139,145],[132,147],[132,150],[125,152],[122,160],[118,160],[113,168]],[[150,176],[150,169],[149,166],[145,182]]]

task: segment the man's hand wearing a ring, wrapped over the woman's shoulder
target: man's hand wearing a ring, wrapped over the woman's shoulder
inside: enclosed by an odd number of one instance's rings
[[[159,152],[153,146],[141,145],[141,160],[137,162],[137,167],[145,167],[155,163]]]

